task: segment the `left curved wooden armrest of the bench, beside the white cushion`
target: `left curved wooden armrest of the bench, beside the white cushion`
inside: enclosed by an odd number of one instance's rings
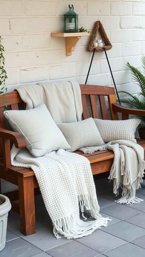
[[[21,133],[5,130],[0,127],[0,137],[2,137],[2,139],[11,140],[16,148],[24,148],[27,146],[26,138]]]

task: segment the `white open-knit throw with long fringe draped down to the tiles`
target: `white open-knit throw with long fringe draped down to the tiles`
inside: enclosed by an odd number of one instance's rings
[[[11,150],[13,166],[27,167],[35,172],[45,206],[52,219],[54,235],[67,239],[91,234],[107,226],[109,218],[99,214],[90,162],[79,154],[63,149],[42,157],[33,157],[26,148]],[[79,217],[79,203],[95,220],[84,222]],[[84,217],[84,216],[83,216]]]

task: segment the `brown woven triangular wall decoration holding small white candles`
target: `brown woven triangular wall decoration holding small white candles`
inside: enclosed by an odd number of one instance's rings
[[[95,47],[93,46],[93,44],[94,44],[94,41],[96,39],[96,35],[97,35],[98,30],[100,32],[100,35],[101,35],[102,39],[104,40],[105,45],[103,47],[96,47],[95,51],[103,52],[104,48],[105,48],[105,50],[110,50],[112,48],[112,45],[111,45],[111,43],[110,43],[110,41],[107,37],[107,34],[104,31],[102,23],[100,21],[96,21],[95,25],[94,25],[94,29],[92,31],[93,35],[91,36],[90,42],[89,42],[88,47],[87,47],[88,52],[93,52],[94,51]]]

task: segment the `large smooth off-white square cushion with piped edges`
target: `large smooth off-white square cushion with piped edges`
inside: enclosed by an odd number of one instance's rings
[[[27,148],[34,157],[60,148],[70,148],[45,104],[29,110],[6,111],[4,115],[13,130],[26,137]]]

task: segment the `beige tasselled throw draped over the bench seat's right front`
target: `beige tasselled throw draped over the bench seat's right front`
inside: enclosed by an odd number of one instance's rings
[[[129,140],[115,140],[97,147],[84,147],[84,153],[109,149],[114,151],[114,162],[109,179],[114,181],[114,193],[117,194],[120,185],[123,187],[122,197],[116,202],[120,204],[137,204],[142,199],[135,196],[135,190],[140,187],[145,169],[144,149]]]

